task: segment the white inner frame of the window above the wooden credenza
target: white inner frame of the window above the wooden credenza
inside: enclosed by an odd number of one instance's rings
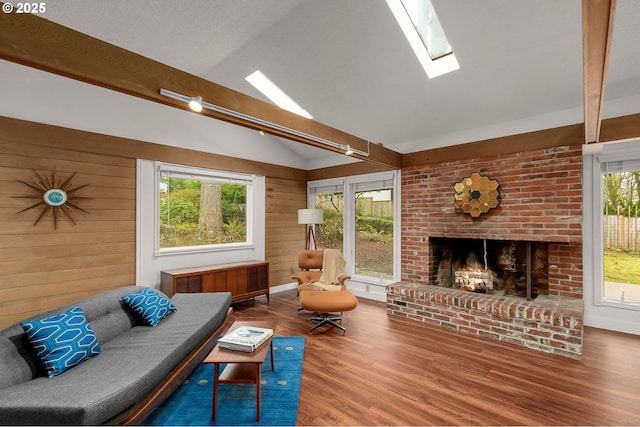
[[[252,191],[256,180],[255,175],[248,175],[236,172],[226,172],[215,169],[199,168],[194,166],[184,166],[172,163],[155,162],[155,213],[154,213],[154,255],[168,256],[189,253],[207,253],[232,251],[243,249],[254,249],[253,243],[253,216]],[[201,181],[211,180],[220,183],[245,184],[247,186],[247,240],[237,243],[221,243],[215,245],[181,246],[174,248],[160,247],[160,178],[161,176],[173,176],[176,178],[198,179]]]

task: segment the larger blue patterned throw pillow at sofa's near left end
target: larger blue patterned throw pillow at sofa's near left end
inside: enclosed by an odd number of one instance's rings
[[[20,322],[52,378],[102,351],[79,306],[39,320]]]

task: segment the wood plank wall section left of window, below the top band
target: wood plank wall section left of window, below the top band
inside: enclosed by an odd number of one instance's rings
[[[43,138],[46,135],[43,135]],[[101,291],[135,283],[135,159],[78,153],[15,141],[0,132],[0,329],[24,317]],[[54,229],[40,209],[18,214],[36,195],[17,181],[53,170],[72,184],[89,211]]]

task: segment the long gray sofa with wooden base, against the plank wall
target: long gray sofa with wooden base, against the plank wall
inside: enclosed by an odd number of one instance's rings
[[[102,347],[53,378],[19,323],[0,331],[0,424],[139,423],[168,397],[227,326],[231,294],[176,294],[177,311],[150,327],[121,301],[140,289],[118,288],[34,317],[79,305]]]

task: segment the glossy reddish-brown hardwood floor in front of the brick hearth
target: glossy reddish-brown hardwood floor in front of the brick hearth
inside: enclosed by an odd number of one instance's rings
[[[640,336],[586,328],[576,361],[387,316],[360,298],[309,335],[296,291],[234,305],[306,336],[298,425],[640,425]],[[277,362],[276,362],[277,366]]]

